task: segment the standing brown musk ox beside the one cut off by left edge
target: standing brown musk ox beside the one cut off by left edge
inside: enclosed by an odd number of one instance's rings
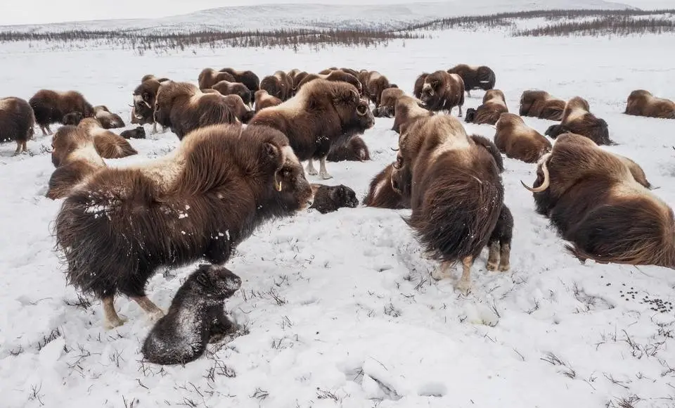
[[[84,117],[94,115],[94,108],[76,91],[56,92],[41,89],[30,98],[28,104],[33,108],[35,122],[45,136],[51,134],[49,125],[56,122],[63,123],[63,117],[68,113],[79,112]]]

